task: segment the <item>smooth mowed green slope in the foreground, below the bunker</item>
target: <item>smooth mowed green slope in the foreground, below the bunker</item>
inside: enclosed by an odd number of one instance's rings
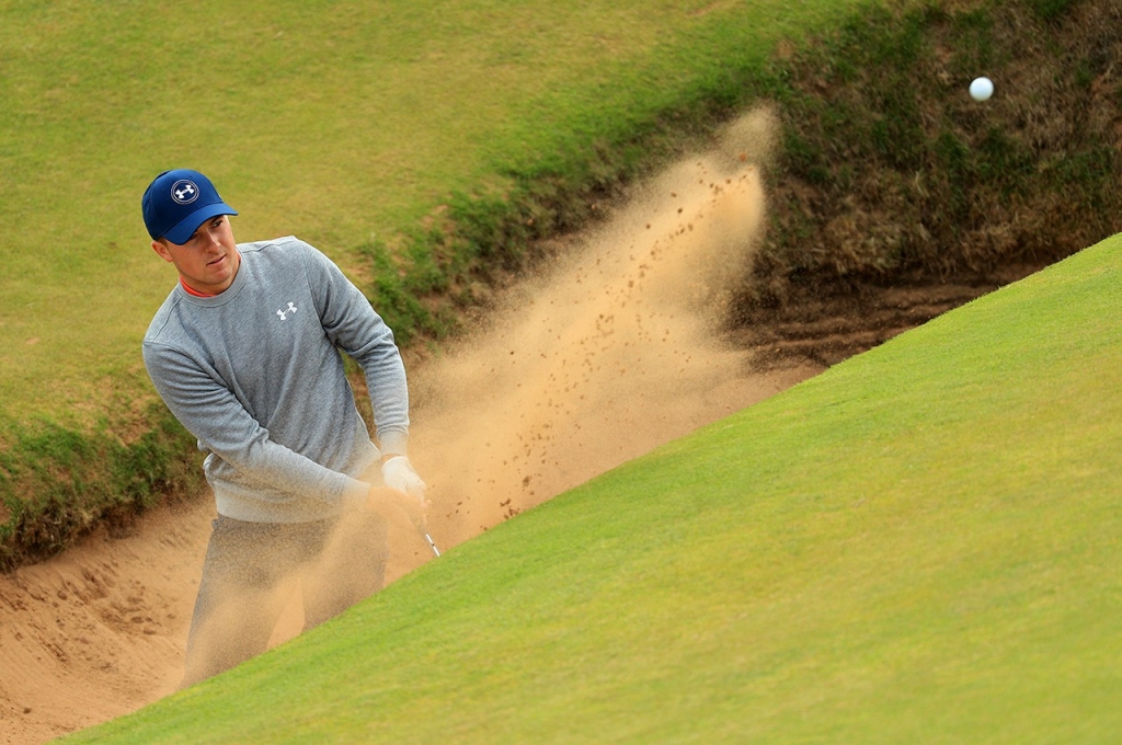
[[[1122,236],[72,742],[1116,742],[1120,287]]]

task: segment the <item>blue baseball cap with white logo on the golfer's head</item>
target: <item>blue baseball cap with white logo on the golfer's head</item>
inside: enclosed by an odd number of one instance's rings
[[[210,178],[190,168],[165,171],[156,176],[140,200],[140,209],[151,239],[166,238],[176,246],[187,242],[206,220],[238,214],[218,195]]]

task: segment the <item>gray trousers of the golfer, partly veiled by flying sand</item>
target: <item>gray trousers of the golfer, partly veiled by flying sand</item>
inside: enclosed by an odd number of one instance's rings
[[[304,629],[381,589],[386,524],[357,511],[311,523],[212,523],[181,688],[266,650],[285,606],[303,594]]]

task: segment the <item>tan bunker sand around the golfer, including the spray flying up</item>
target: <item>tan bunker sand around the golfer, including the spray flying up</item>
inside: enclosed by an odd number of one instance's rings
[[[448,550],[819,371],[753,374],[716,333],[764,224],[766,113],[640,190],[480,329],[411,370],[413,460]],[[165,507],[0,577],[0,742],[38,743],[174,690],[213,507]],[[432,559],[390,524],[393,581]],[[300,604],[273,643],[301,627]]]

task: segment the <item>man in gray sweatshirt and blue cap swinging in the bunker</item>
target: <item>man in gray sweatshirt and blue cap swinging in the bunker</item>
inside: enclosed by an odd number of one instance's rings
[[[218,508],[186,687],[264,652],[296,580],[305,628],[380,589],[386,525],[368,503],[394,503],[419,527],[427,503],[406,453],[393,332],[339,268],[293,237],[236,243],[238,213],[195,171],[159,174],[141,208],[153,250],[178,274],[145,334],[145,367],[206,453]],[[377,445],[340,350],[366,375]]]

